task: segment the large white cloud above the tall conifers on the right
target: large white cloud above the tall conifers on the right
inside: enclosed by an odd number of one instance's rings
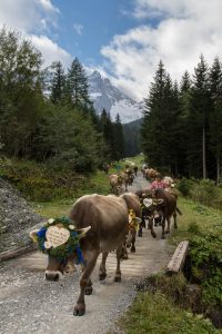
[[[103,70],[140,100],[148,96],[160,59],[180,80],[185,70],[193,72],[201,53],[210,65],[222,57],[221,12],[221,0],[137,0],[133,14],[143,24],[101,48]]]

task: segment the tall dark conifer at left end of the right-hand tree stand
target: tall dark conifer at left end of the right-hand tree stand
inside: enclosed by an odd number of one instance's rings
[[[143,151],[152,166],[178,173],[176,117],[178,86],[172,84],[162,61],[145,99],[141,137]]]

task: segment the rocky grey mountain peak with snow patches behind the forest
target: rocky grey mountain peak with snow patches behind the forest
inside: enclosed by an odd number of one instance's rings
[[[112,120],[119,114],[122,124],[142,117],[142,102],[135,102],[114,87],[108,78],[102,78],[100,72],[93,71],[88,77],[88,82],[90,97],[99,115],[104,108],[107,112],[110,112]]]

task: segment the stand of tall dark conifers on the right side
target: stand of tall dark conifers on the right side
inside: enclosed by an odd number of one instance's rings
[[[142,149],[150,165],[180,177],[221,179],[222,66],[203,55],[194,75],[172,81],[160,61],[144,100]]]

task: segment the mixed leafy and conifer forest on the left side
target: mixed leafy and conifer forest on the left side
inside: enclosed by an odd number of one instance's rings
[[[17,31],[0,30],[0,149],[13,158],[89,173],[124,156],[123,129],[97,115],[85,71],[73,59],[42,68],[42,55]]]

